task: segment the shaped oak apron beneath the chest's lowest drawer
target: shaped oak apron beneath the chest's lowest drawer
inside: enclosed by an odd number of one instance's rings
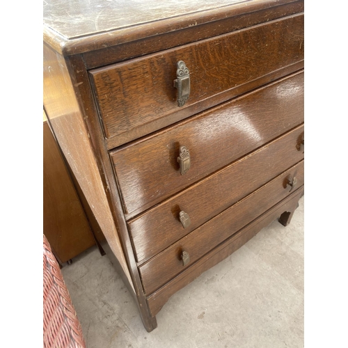
[[[258,219],[255,219],[242,228],[242,230],[239,230],[237,233],[232,235],[232,237],[228,238],[225,242],[207,253],[203,258],[200,258],[200,260],[191,264],[190,267],[173,278],[173,280],[148,296],[148,306],[151,315],[155,317],[166,301],[168,301],[169,297],[175,294],[175,292],[198,278],[198,276],[200,276],[204,271],[207,271],[207,269],[212,268],[215,264],[218,264],[227,258],[230,254],[248,242],[248,240],[257,235],[262,228],[274,221],[274,219],[280,216],[280,214],[287,211],[294,212],[302,192],[303,189],[299,188],[280,203],[264,212],[264,214],[259,216]]]

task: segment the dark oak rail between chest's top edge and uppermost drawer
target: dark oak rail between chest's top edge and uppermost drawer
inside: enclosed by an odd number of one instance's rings
[[[169,32],[159,33],[159,31],[157,31],[156,35],[152,35],[143,40],[127,41],[119,45],[106,48],[103,47],[102,49],[95,49],[93,46],[93,51],[84,52],[84,62],[87,69],[92,69],[138,56],[145,56],[146,54],[152,54],[164,49],[170,49],[190,42],[211,38],[216,35],[230,33],[231,31],[246,28],[247,26],[253,26],[281,17],[294,15],[295,13],[301,13],[304,7],[303,0],[290,3],[275,3],[274,5],[275,6],[271,8],[266,7],[258,11],[246,11],[240,14],[238,14],[237,11],[228,11],[225,8],[224,13],[214,15],[214,22],[205,22],[202,18],[200,18],[200,20],[195,19],[191,22],[194,25],[189,23],[186,28],[183,27],[183,29],[179,29],[179,31],[173,30],[177,22],[175,23],[175,20],[172,19],[173,25]],[[244,8],[244,10],[246,10],[246,8]],[[184,25],[184,21],[181,20],[180,24]],[[212,25],[214,25],[213,29]],[[127,38],[129,38],[129,36],[130,35],[127,35]],[[95,44],[95,41],[93,44]]]

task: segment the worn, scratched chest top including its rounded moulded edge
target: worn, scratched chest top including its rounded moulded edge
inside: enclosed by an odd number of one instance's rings
[[[179,6],[175,0],[160,4],[147,0],[45,0],[44,40],[60,54],[81,54],[294,2],[303,3],[303,0],[221,0],[203,3],[182,0]],[[146,10],[139,13],[138,10],[144,6]],[[184,13],[184,8],[188,10],[187,13]],[[175,15],[177,13],[179,16]]]

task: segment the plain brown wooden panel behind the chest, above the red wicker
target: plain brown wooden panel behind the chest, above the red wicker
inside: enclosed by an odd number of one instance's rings
[[[43,122],[43,230],[62,263],[95,245],[79,196],[47,121]]]

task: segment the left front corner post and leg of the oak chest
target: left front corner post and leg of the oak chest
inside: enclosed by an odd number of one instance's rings
[[[106,199],[109,203],[113,221],[118,232],[117,237],[119,239],[115,240],[112,238],[110,231],[103,231],[106,237],[106,243],[103,243],[102,247],[104,251],[108,253],[108,257],[113,263],[116,271],[118,271],[118,273],[121,272],[121,278],[125,281],[129,292],[131,292],[136,299],[136,305],[139,308],[139,314],[141,315],[145,329],[150,332],[157,327],[157,321],[155,317],[150,316],[145,295],[143,294],[139,270],[133,253],[129,252],[132,251],[132,244],[129,238],[125,216],[122,214],[119,191],[113,175],[111,161],[109,160],[109,153],[107,152],[106,144],[104,143],[104,136],[102,135],[102,129],[100,128],[100,121],[97,116],[97,110],[95,109],[92,91],[90,90],[87,75],[88,72],[85,69],[84,61],[80,55],[70,56],[69,63],[70,76],[73,77],[72,81],[76,90],[75,93],[79,97],[78,100],[80,102],[81,112],[84,113],[84,122],[89,130],[88,137],[90,137],[90,145],[95,154]],[[123,258],[120,258],[119,255],[115,253],[115,242],[118,241],[120,242],[119,246],[122,248],[124,253]],[[128,272],[124,271],[124,260],[129,270]]]

